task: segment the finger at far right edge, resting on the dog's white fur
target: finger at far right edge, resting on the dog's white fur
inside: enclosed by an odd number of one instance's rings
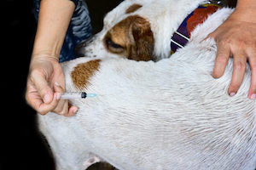
[[[249,65],[251,68],[251,85],[248,93],[250,99],[256,99],[256,49],[247,51]]]

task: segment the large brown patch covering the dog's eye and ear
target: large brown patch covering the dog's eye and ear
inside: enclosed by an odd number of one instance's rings
[[[109,52],[134,60],[154,60],[154,35],[150,23],[138,15],[131,15],[113,26],[105,38]]]

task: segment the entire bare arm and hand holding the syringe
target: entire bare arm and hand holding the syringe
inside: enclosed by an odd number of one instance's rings
[[[38,30],[27,78],[26,101],[40,114],[54,111],[71,116],[77,107],[60,100],[65,78],[59,64],[61,46],[75,5],[69,0],[42,0]]]

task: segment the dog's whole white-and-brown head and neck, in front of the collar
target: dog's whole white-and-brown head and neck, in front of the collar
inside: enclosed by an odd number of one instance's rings
[[[75,52],[79,56],[144,61],[166,58],[171,52],[173,31],[187,11],[201,1],[191,4],[188,0],[126,0],[106,15],[102,31],[79,44]]]

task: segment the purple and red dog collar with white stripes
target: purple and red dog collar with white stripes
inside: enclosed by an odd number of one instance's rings
[[[183,48],[189,42],[190,33],[195,27],[207,20],[208,16],[215,13],[218,8],[221,7],[212,3],[200,5],[198,8],[195,8],[172,35],[171,54],[174,54],[177,48]]]

